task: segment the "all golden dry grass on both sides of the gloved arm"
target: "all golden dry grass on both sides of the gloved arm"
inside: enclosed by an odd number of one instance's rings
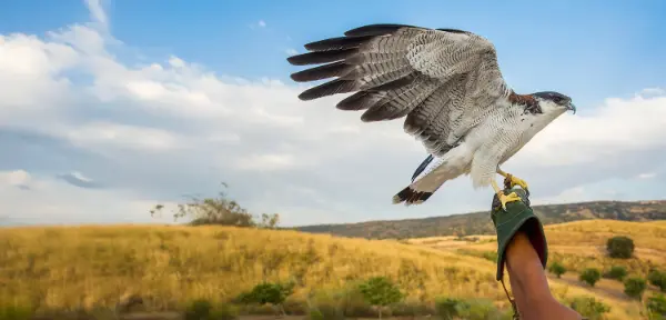
[[[569,270],[622,264],[644,276],[646,266],[666,267],[664,223],[584,221],[546,230],[551,259]],[[637,257],[605,258],[602,248],[613,234],[629,234]],[[2,229],[0,301],[39,310],[95,309],[114,308],[123,297],[138,294],[148,311],[172,311],[199,298],[228,301],[264,280],[292,280],[296,289],[290,301],[305,303],[334,299],[356,281],[387,276],[407,302],[481,297],[506,307],[494,280],[495,263],[464,253],[495,250],[493,237],[476,238],[401,243],[228,227]],[[609,319],[638,319],[640,303],[624,297],[619,282],[604,279],[588,288],[572,271],[551,282],[559,299],[594,296],[613,306]]]

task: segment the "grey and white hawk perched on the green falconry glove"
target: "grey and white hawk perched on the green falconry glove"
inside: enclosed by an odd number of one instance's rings
[[[364,110],[363,122],[405,118],[405,132],[430,153],[412,183],[393,197],[394,203],[422,203],[444,182],[471,176],[474,189],[492,186],[506,208],[519,198],[504,194],[495,174],[509,187],[527,190],[527,183],[500,166],[557,117],[576,112],[572,99],[562,93],[513,91],[500,71],[493,43],[470,31],[370,24],[304,47],[310,52],[287,61],[323,66],[291,78],[335,79],[303,91],[301,100],[354,92],[336,108]]]

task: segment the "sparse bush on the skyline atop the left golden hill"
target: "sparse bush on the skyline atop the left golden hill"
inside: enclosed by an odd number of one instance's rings
[[[228,188],[226,183],[222,183],[223,189]],[[214,198],[188,197],[185,203],[179,203],[173,212],[173,220],[178,221],[182,218],[191,218],[193,226],[200,224],[221,224],[234,227],[258,227],[273,229],[280,222],[280,214],[261,216],[261,222],[255,221],[255,217],[248,210],[241,207],[235,200],[229,199],[228,193],[222,190]],[[150,210],[151,216],[160,214],[164,210],[164,204],[155,204]]]

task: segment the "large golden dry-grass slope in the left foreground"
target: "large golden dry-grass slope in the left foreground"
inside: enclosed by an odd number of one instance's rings
[[[396,241],[224,227],[17,228],[0,232],[0,301],[40,309],[113,307],[144,297],[151,310],[222,301],[262,280],[300,283],[295,298],[371,276],[413,300],[503,300],[494,264]]]

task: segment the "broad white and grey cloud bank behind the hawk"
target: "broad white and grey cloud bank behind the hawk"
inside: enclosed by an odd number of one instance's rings
[[[108,24],[99,3],[89,3],[91,14]],[[109,46],[119,41],[104,32],[74,24],[46,38],[0,36],[0,139],[8,139],[1,140],[6,154],[18,154],[0,164],[19,170],[2,176],[0,216],[143,221],[157,200],[214,194],[220,181],[251,211],[280,212],[286,224],[490,206],[491,190],[474,191],[466,178],[446,183],[424,206],[391,204],[425,158],[400,121],[362,123],[360,112],[335,109],[339,97],[302,102],[304,87],[216,76],[175,56],[119,60]],[[610,187],[589,186],[659,172],[666,94],[646,92],[563,116],[505,171],[525,179],[538,201],[605,198]],[[65,176],[75,180],[52,178]],[[71,183],[85,179],[104,188]]]

